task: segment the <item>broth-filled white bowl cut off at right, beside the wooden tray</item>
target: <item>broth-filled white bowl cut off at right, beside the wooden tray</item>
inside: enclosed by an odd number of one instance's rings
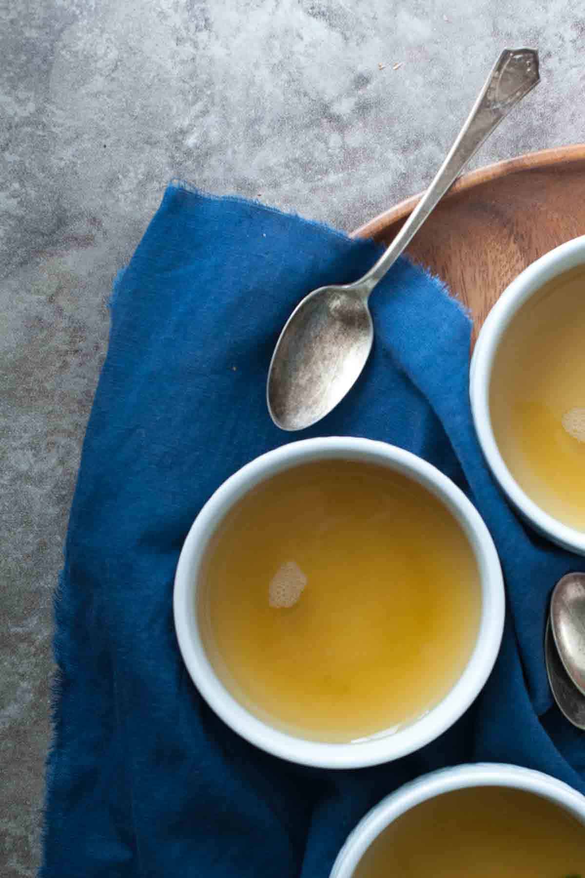
[[[469,392],[489,467],[524,519],[585,554],[585,237],[503,292],[472,357]]]

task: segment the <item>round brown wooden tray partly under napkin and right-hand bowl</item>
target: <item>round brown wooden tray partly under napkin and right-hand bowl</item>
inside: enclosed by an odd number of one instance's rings
[[[420,195],[353,237],[389,244]],[[548,250],[585,234],[585,144],[545,149],[461,176],[407,254],[471,311],[474,338],[510,281]]]

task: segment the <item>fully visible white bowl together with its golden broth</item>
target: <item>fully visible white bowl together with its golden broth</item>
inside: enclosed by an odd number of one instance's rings
[[[397,759],[473,702],[503,581],[480,515],[431,464],[358,438],[290,443],[208,500],[182,547],[175,630],[203,698],[310,766]]]

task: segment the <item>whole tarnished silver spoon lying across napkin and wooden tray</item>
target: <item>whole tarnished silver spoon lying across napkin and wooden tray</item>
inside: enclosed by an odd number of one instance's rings
[[[504,49],[437,176],[386,253],[360,280],[320,287],[296,307],[268,370],[268,411],[277,427],[310,427],[344,398],[372,348],[374,327],[367,307],[371,291],[483,141],[538,83],[538,52]]]

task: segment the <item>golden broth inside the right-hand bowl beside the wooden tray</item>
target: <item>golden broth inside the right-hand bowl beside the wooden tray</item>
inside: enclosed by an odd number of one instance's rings
[[[585,271],[517,313],[496,355],[489,406],[512,476],[539,507],[585,530]]]

